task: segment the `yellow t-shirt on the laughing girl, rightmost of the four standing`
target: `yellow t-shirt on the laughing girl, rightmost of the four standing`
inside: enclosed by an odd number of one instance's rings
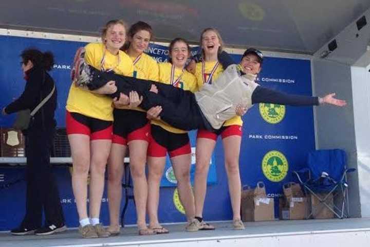
[[[199,90],[202,88],[205,81],[210,77],[210,74],[212,72],[212,69],[216,65],[217,61],[210,61],[205,62],[205,75],[202,75],[202,62],[197,63],[195,66],[195,77],[197,78],[198,88]],[[224,69],[221,64],[218,64],[215,72],[213,73],[213,76],[210,80],[210,83],[214,83],[215,80],[218,78],[218,76],[224,72]],[[230,125],[243,125],[243,120],[240,116],[235,116],[233,118],[230,118],[229,120],[225,121],[224,126],[230,126]]]

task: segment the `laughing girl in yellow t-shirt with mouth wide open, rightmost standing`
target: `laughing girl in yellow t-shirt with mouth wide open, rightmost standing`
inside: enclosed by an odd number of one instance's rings
[[[215,28],[206,28],[200,35],[200,45],[202,47],[203,61],[195,66],[195,76],[199,89],[205,83],[213,83],[224,71],[217,60],[218,52],[223,49],[223,40]],[[244,114],[241,110],[235,116],[224,123],[224,126],[211,132],[208,130],[198,130],[196,143],[196,168],[194,179],[194,200],[195,200],[195,221],[189,227],[189,231],[200,229],[214,229],[214,226],[205,223],[202,219],[203,206],[207,190],[207,177],[211,160],[212,151],[216,145],[219,135],[223,139],[225,167],[229,180],[229,192],[231,207],[233,209],[233,226],[235,230],[243,229],[241,221],[241,178],[239,174],[239,152],[242,140],[243,121],[240,117]]]

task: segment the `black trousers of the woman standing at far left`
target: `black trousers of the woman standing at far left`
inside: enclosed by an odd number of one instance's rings
[[[57,182],[52,174],[50,151],[54,129],[32,128],[26,134],[26,215],[23,225],[28,228],[64,224]]]

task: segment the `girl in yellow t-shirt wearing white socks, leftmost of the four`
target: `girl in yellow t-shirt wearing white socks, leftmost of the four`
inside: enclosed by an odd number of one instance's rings
[[[125,42],[125,33],[123,21],[109,21],[102,30],[103,43],[86,45],[86,63],[97,69],[132,76],[133,63],[120,50]],[[73,163],[72,188],[80,220],[79,232],[84,238],[109,236],[99,221],[99,215],[105,166],[112,143],[113,107],[112,99],[103,94],[115,87],[115,82],[110,81],[99,90],[88,91],[72,83],[67,99],[66,129]],[[88,215],[86,200],[89,171]]]

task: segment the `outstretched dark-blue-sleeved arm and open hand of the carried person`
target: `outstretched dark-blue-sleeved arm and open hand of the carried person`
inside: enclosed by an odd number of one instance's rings
[[[304,106],[328,103],[332,105],[337,105],[338,107],[344,107],[344,105],[346,105],[345,100],[336,99],[334,98],[334,96],[335,94],[328,94],[323,98],[319,98],[305,95],[287,94],[267,89],[266,87],[263,86],[257,86],[252,94],[252,104],[273,103],[273,104],[286,104],[292,106]]]

